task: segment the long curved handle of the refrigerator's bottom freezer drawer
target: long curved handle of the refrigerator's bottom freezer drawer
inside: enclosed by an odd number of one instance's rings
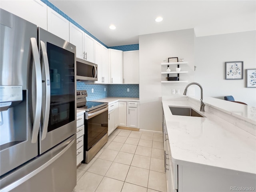
[[[32,178],[33,176],[38,174],[39,172],[41,172],[42,170],[44,170],[46,167],[48,167],[50,164],[52,164],[55,160],[57,160],[60,156],[62,156],[62,154],[64,154],[72,146],[72,144],[75,142],[75,140],[76,140],[76,138],[74,138],[64,149],[62,149],[60,152],[58,152],[54,157],[52,157],[50,160],[48,160],[45,164],[42,164],[41,166],[39,166],[38,168],[36,168],[32,172],[30,172],[29,174],[26,174],[26,176],[16,180],[15,182],[9,184],[8,186],[1,188],[0,192],[10,191],[10,190],[14,189],[17,186],[19,186],[20,184],[26,182],[27,180],[29,180],[30,178]]]

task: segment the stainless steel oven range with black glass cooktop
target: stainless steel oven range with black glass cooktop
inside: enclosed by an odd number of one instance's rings
[[[87,91],[76,92],[76,107],[84,113],[84,160],[88,163],[108,141],[108,103],[86,101]]]

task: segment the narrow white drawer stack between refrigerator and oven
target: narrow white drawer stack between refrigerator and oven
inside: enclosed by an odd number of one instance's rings
[[[76,166],[84,159],[84,114],[76,117]]]

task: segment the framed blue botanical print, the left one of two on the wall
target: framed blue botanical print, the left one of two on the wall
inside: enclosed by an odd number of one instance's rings
[[[225,79],[243,79],[243,61],[225,62]]]

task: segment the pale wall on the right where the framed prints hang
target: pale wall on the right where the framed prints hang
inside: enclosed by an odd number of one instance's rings
[[[225,80],[225,62],[243,61],[243,80]],[[246,69],[256,69],[256,31],[195,38],[195,81],[204,88],[204,96],[256,106],[256,88],[246,88]],[[196,92],[198,96],[199,92]]]

